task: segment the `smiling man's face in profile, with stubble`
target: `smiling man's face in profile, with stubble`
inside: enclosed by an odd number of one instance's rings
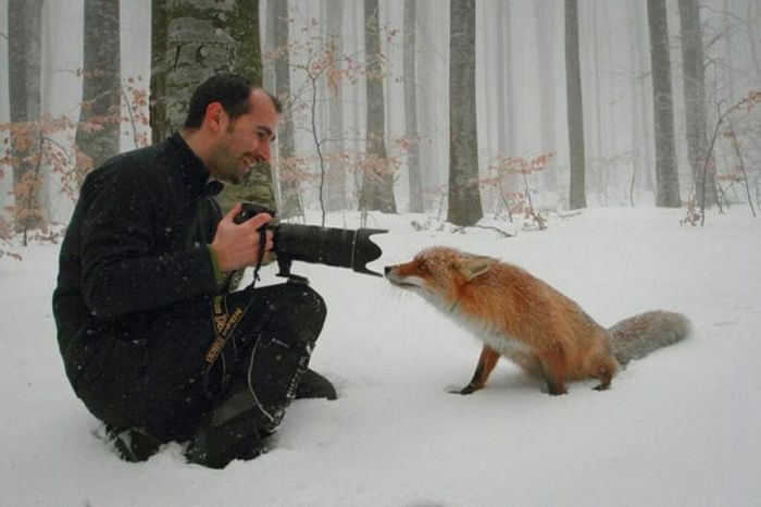
[[[275,139],[277,111],[270,97],[253,90],[249,112],[229,121],[224,112],[216,143],[209,160],[211,175],[230,183],[240,183],[251,166],[270,161],[270,145]]]

